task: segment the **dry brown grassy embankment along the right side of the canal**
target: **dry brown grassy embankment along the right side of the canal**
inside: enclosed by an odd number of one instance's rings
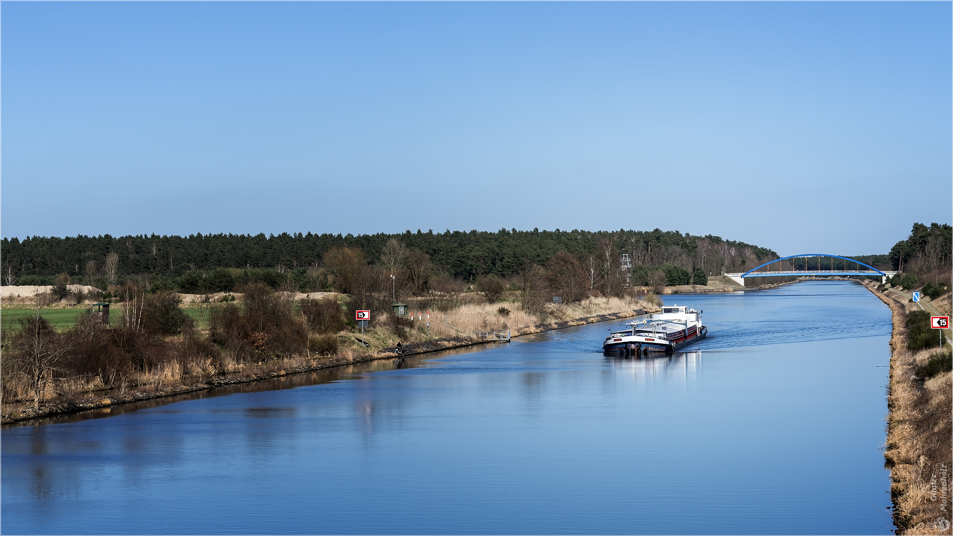
[[[890,381],[887,395],[887,440],[883,457],[890,469],[890,495],[898,534],[950,534],[951,381],[948,361],[937,348],[908,349],[910,312],[915,303],[896,293],[878,292],[876,282],[865,286],[882,299],[893,316],[890,340]],[[882,289],[883,290],[883,289]],[[933,304],[950,314],[950,295]],[[946,354],[948,355],[948,346]]]

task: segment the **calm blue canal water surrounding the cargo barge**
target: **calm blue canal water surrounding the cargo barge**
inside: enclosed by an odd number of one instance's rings
[[[887,307],[851,282],[2,431],[4,533],[889,533]],[[186,397],[185,399],[188,399]]]

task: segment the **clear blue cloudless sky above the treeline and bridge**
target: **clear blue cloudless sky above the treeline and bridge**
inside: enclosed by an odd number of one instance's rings
[[[2,5],[2,235],[951,220],[951,4]]]

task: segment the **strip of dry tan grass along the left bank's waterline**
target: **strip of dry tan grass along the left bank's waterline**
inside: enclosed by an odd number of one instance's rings
[[[240,295],[237,298],[240,300]],[[393,359],[397,357],[394,346],[398,340],[406,345],[407,353],[419,354],[480,343],[481,340],[469,335],[476,331],[511,331],[516,337],[571,325],[633,317],[644,310],[654,310],[654,301],[651,298],[590,298],[572,305],[549,305],[545,320],[539,321],[536,316],[526,314],[517,304],[509,301],[495,304],[478,301],[477,296],[470,297],[459,307],[447,311],[446,320],[444,313],[432,314],[429,332],[422,321],[415,321],[415,325],[409,328],[392,327],[385,323],[367,329],[364,332],[367,346],[361,345],[359,330],[341,331],[336,336],[338,350],[334,356],[316,356],[309,352],[268,361],[231,362],[227,366],[212,361],[188,363],[185,366],[172,362],[168,366],[158,366],[138,373],[131,381],[122,384],[109,384],[98,377],[92,380],[64,381],[57,386],[59,394],[50,397],[39,409],[31,409],[30,402],[26,399],[5,400],[2,408],[3,423],[96,409],[115,403],[150,400],[220,385],[264,380],[363,361]],[[416,305],[425,310],[426,302],[412,300],[410,305],[412,311],[416,311]],[[509,313],[501,311],[501,308],[509,310]],[[118,309],[119,307],[116,307],[117,312]],[[208,318],[208,307],[184,309],[198,319],[197,329],[207,329],[203,323],[204,319]],[[59,314],[67,319],[69,314],[75,316],[83,310],[85,307],[77,306],[50,311],[54,314],[62,311]],[[4,309],[5,316],[14,312],[26,315],[35,312],[35,309]],[[69,319],[62,321],[66,324]],[[444,321],[446,323],[443,323]],[[454,327],[450,327],[451,325]],[[59,329],[66,329],[66,326]],[[463,335],[458,330],[468,334]]]

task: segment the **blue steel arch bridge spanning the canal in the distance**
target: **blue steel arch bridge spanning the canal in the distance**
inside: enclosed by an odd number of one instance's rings
[[[882,278],[882,282],[885,283],[887,282],[887,278],[896,275],[897,272],[884,272],[873,266],[864,264],[860,260],[823,253],[805,253],[776,258],[744,273],[725,274],[725,276],[742,286],[744,285],[745,278],[874,276]]]

